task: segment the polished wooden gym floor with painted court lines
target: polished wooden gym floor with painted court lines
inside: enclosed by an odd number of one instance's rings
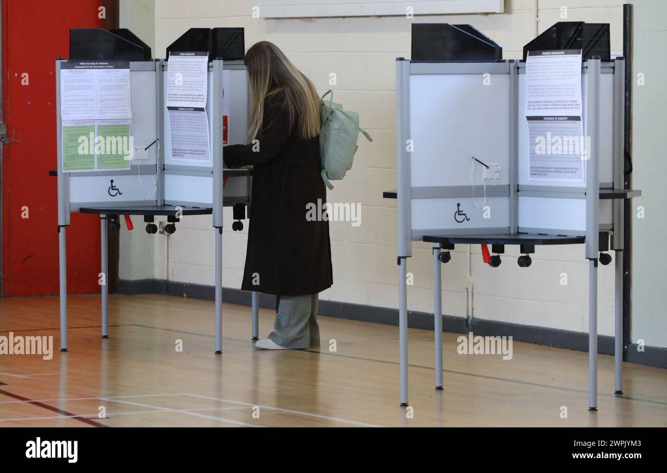
[[[53,336],[54,348],[51,360],[0,355],[0,427],[667,426],[667,370],[624,364],[625,394],[614,396],[612,356],[599,357],[598,412],[589,412],[585,352],[515,342],[512,360],[465,356],[446,333],[445,390],[436,391],[433,332],[410,329],[406,418],[396,326],[321,317],[321,350],[258,351],[249,307],[225,304],[215,355],[213,302],[111,295],[102,340],[99,294],[68,300],[61,353],[57,296],[0,299],[0,335]],[[272,325],[261,310],[260,336]]]

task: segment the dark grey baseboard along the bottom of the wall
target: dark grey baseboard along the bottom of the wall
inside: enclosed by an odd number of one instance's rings
[[[169,296],[187,296],[205,300],[215,299],[215,288],[213,286],[159,279],[119,280],[116,292],[119,294],[167,294]],[[231,304],[251,305],[250,292],[240,289],[223,288],[222,299],[223,302]],[[259,306],[275,309],[275,296],[260,293]],[[398,325],[397,309],[351,304],[349,302],[336,302],[333,300],[320,300],[318,309],[320,315],[327,317]],[[434,330],[433,314],[410,310],[408,311],[408,326],[410,328]],[[588,333],[585,332],[572,332],[557,328],[496,322],[494,320],[482,320],[478,318],[466,320],[463,317],[450,315],[442,317],[442,326],[445,332],[461,334],[474,332],[474,334],[482,336],[512,336],[512,339],[517,342],[588,351]],[[598,335],[598,353],[614,354],[614,337]],[[627,361],[647,366],[667,368],[667,348],[645,346],[644,351],[639,352],[636,344],[630,344]]]

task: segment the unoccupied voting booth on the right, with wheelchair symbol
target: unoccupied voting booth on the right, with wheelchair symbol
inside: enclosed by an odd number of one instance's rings
[[[616,251],[616,392],[622,392],[624,59],[609,26],[558,23],[525,61],[470,25],[413,25],[412,61],[396,61],[401,403],[408,405],[407,258],[433,245],[436,388],[442,389],[443,262],[482,244],[519,266],[542,244],[585,244],[589,275],[589,407],[597,407],[597,271]],[[418,58],[418,59],[415,59]],[[488,251],[488,246],[491,250]],[[493,255],[491,255],[491,253]],[[498,269],[499,271],[502,268]]]

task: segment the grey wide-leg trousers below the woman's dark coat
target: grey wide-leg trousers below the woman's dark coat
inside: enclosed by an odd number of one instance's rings
[[[319,346],[317,298],[319,294],[280,296],[269,339],[287,348]]]

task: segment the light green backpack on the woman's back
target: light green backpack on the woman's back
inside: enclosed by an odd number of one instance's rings
[[[331,94],[329,103],[324,97]],[[331,181],[343,179],[352,168],[354,153],[357,152],[359,132],[364,133],[368,141],[371,135],[359,127],[359,114],[343,110],[340,103],[333,103],[333,91],[327,91],[319,101],[322,127],[319,131],[319,154],[322,159],[321,177],[329,190]]]

